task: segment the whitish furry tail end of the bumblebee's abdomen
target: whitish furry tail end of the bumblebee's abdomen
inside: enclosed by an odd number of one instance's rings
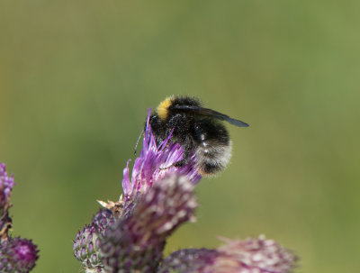
[[[214,175],[229,164],[231,158],[231,141],[225,143],[203,142],[195,150],[196,168],[202,176]]]

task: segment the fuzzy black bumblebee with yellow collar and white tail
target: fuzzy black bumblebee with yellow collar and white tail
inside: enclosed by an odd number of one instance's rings
[[[226,168],[231,157],[229,132],[220,121],[248,126],[226,114],[203,108],[199,100],[189,96],[167,97],[151,114],[149,124],[157,143],[165,141],[172,132],[172,139],[183,147],[183,159],[173,166],[183,167],[194,153],[199,173],[211,176]]]

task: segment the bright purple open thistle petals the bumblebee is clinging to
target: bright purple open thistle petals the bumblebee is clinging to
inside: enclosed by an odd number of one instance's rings
[[[129,161],[123,170],[122,188],[124,201],[134,199],[139,193],[151,187],[154,181],[170,174],[183,175],[193,184],[196,184],[201,175],[195,168],[195,156],[184,167],[176,168],[173,164],[183,159],[183,148],[176,142],[171,141],[171,134],[165,141],[157,145],[157,140],[149,126],[151,110],[148,110],[145,136],[139,158],[135,159],[131,178],[129,175]]]

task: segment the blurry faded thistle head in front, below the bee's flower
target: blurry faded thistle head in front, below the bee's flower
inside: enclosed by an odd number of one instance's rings
[[[106,272],[156,272],[166,237],[194,219],[193,183],[186,177],[157,180],[130,216],[105,233],[100,248]]]

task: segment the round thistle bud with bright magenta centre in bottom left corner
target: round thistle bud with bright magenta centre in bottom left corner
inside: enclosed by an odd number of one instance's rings
[[[31,240],[10,238],[0,245],[0,272],[27,273],[35,267],[39,250]]]

